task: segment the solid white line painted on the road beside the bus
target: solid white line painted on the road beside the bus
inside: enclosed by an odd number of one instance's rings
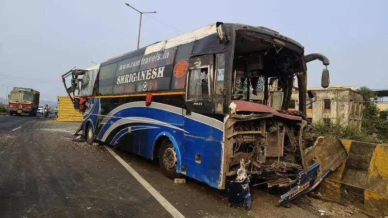
[[[111,153],[114,156],[114,158],[116,158],[118,160],[118,162],[120,162],[125,167],[125,169],[127,169],[127,171],[130,172],[130,174],[133,175],[133,177],[135,177],[135,179],[137,179],[137,181],[139,181],[140,184],[142,184],[142,186],[144,188],[146,188],[146,190],[152,196],[154,196],[154,198],[159,203],[162,204],[162,206],[173,217],[184,218],[184,216],[170,202],[168,202],[154,187],[152,187],[141,175],[139,175],[139,173],[137,173],[135,170],[133,170],[133,168],[131,168],[127,162],[125,162],[120,156],[118,156],[110,147],[108,147],[106,145],[104,145],[104,147],[106,148],[106,150],[109,151],[109,153]]]

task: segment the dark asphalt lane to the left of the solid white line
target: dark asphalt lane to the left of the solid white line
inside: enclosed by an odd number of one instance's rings
[[[23,126],[0,133],[0,217],[171,217],[104,147],[70,140],[79,123],[12,118],[3,130]]]

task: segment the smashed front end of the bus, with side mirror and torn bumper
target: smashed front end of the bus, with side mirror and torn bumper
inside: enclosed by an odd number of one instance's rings
[[[347,158],[337,138],[323,142],[308,134],[306,104],[314,94],[307,96],[306,62],[318,59],[327,66],[328,59],[321,54],[305,56],[299,43],[267,28],[225,24],[219,29],[220,40],[227,38],[233,45],[227,53],[233,61],[225,63],[230,76],[224,82],[228,93],[224,97],[224,181],[229,180],[229,186],[230,181],[242,186],[255,180],[268,187],[312,189]],[[327,68],[322,81],[326,88]],[[290,104],[295,90],[299,99],[293,102],[298,108]],[[301,172],[307,175],[314,164],[319,166],[314,168],[319,169],[315,177],[302,184]]]

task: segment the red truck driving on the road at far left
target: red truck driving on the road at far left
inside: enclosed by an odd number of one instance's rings
[[[14,87],[8,95],[9,115],[28,113],[36,116],[39,105],[39,92],[29,88]]]

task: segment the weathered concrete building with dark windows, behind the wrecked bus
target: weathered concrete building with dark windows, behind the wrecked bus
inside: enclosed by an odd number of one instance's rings
[[[342,117],[347,124],[361,125],[363,95],[357,93],[355,87],[329,86],[327,89],[309,87],[315,93],[315,100],[307,97],[307,118],[312,122],[330,121]],[[297,110],[299,92],[297,88],[291,94],[289,110]]]

